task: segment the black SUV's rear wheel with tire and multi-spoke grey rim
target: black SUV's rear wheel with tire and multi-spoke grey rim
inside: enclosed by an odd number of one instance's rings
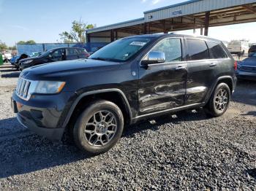
[[[206,113],[211,117],[219,117],[225,114],[230,104],[230,87],[225,83],[220,83],[215,87],[208,104],[206,105]]]

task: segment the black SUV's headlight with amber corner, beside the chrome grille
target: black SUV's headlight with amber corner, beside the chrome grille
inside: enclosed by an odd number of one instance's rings
[[[66,82],[38,81],[34,93],[60,93]]]

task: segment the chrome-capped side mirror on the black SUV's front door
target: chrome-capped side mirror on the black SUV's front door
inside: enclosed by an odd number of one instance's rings
[[[154,63],[165,63],[165,52],[151,51],[146,55],[146,57],[141,61],[143,66]]]

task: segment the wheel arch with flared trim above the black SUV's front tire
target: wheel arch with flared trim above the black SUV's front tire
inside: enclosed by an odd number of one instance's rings
[[[117,88],[111,88],[92,90],[89,92],[81,93],[78,98],[75,99],[74,103],[69,109],[67,117],[62,125],[63,128],[66,128],[69,122],[75,120],[75,118],[78,117],[77,115],[79,114],[80,110],[85,109],[86,105],[96,99],[105,99],[107,101],[112,101],[121,109],[121,112],[124,114],[124,121],[127,124],[130,124],[132,122],[131,108],[124,92]]]

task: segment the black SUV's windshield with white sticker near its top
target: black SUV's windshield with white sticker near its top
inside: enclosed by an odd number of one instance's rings
[[[127,61],[151,41],[151,38],[119,39],[94,52],[90,59],[102,61]]]

